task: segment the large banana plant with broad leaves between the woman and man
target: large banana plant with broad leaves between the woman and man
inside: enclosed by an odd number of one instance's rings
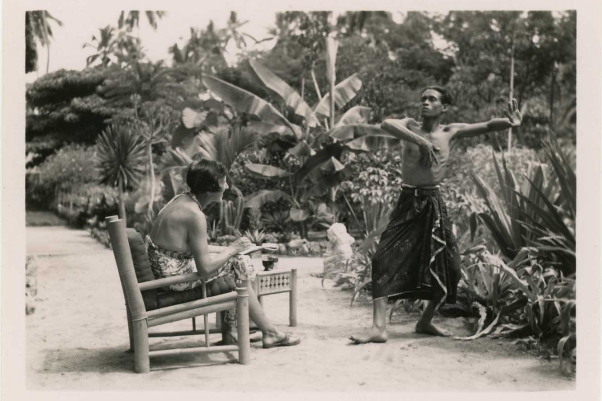
[[[334,66],[334,60],[330,63]],[[272,103],[221,79],[203,75],[202,81],[238,112],[259,118],[260,121],[249,121],[247,127],[266,138],[268,150],[276,150],[273,153],[282,153],[283,159],[287,159],[288,168],[272,164],[245,165],[256,176],[282,182],[279,189],[259,189],[247,194],[246,206],[261,207],[268,201],[284,198],[290,203],[291,220],[297,222],[300,233],[306,236],[308,226],[316,219],[310,219],[314,210],[308,201],[330,195],[330,203],[334,203],[337,187],[346,177],[346,166],[341,162],[344,152],[367,152],[399,141],[367,124],[370,109],[355,106],[335,119],[330,95],[322,97],[315,108],[311,108],[293,88],[261,63],[250,60],[249,64],[258,82],[284,102],[284,114]],[[338,108],[349,103],[361,88],[356,75],[337,85],[331,84],[335,95],[333,103]],[[327,207],[335,209],[332,204]]]

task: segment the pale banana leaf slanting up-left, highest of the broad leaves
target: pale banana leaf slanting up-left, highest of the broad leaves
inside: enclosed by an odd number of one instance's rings
[[[294,114],[304,117],[309,127],[315,127],[320,124],[311,107],[309,107],[309,105],[305,103],[305,100],[303,100],[303,98],[286,82],[282,81],[275,73],[265,68],[259,61],[249,60],[249,64],[261,82],[282,97],[284,103],[293,109]]]

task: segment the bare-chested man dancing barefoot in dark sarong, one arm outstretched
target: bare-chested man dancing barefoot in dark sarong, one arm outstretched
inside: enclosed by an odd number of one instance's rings
[[[356,344],[384,343],[388,298],[427,299],[416,332],[450,335],[432,323],[445,302],[456,302],[460,257],[452,224],[439,191],[450,153],[450,142],[486,132],[518,127],[516,99],[508,103],[507,118],[477,124],[441,124],[452,103],[445,88],[424,88],[420,98],[422,122],[413,118],[385,120],[380,127],[406,142],[403,147],[403,186],[391,220],[372,257],[374,315],[368,331],[352,335]]]

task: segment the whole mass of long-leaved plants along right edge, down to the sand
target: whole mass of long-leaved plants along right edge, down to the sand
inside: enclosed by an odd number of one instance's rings
[[[543,149],[550,168],[532,168],[522,185],[494,156],[499,196],[473,175],[482,203],[473,202],[471,233],[482,224],[500,254],[483,245],[465,251],[459,300],[480,316],[476,334],[464,339],[532,335],[556,344],[562,361],[566,345],[572,355],[576,346],[576,176],[553,135]]]

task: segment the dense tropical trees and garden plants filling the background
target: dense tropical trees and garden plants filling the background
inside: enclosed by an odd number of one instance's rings
[[[144,15],[161,29],[161,11]],[[27,86],[29,209],[55,210],[104,241],[102,220],[118,211],[147,232],[185,189],[185,166],[218,160],[231,190],[206,210],[211,239],[244,233],[287,244],[283,253],[319,255],[324,230],[344,222],[356,255],[331,277],[355,299],[370,293],[370,253],[403,182],[400,144],[362,139],[366,126],[416,118],[426,85],[452,92],[446,123],[502,117],[512,93],[524,115],[512,150],[506,132],[465,140],[442,183],[464,269],[461,301],[447,313],[480,316],[479,335],[560,340],[561,357],[574,342],[573,11],[413,11],[402,22],[384,11],[335,20],[285,12],[275,15],[276,45],[265,52],[232,13],[222,27],[191,27],[184,45],[170,47],[171,60],[158,62],[134,34],[141,18],[122,13],[99,29],[84,70]],[[26,14],[28,71],[57,25],[45,11]],[[234,65],[224,57],[229,43]],[[346,93],[335,114],[325,100],[320,106],[332,72]]]

